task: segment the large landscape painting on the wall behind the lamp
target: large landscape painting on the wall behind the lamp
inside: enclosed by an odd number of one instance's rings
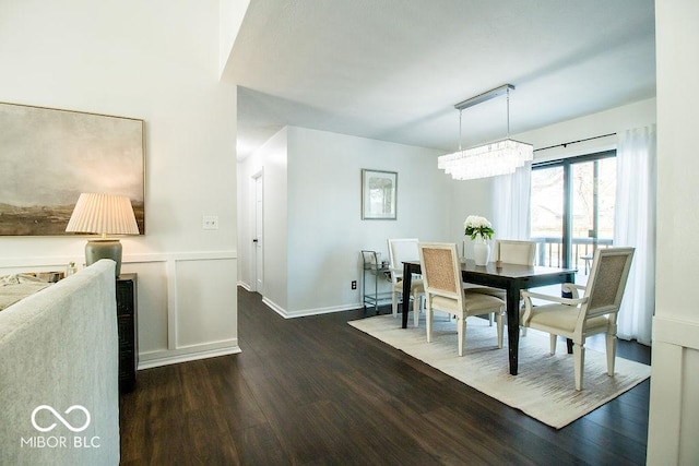
[[[0,236],[63,236],[83,192],[126,195],[145,234],[144,121],[0,103]]]

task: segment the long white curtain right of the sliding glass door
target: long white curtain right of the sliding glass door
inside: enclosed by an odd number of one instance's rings
[[[625,131],[616,160],[614,244],[636,248],[617,335],[650,345],[655,309],[655,126]]]

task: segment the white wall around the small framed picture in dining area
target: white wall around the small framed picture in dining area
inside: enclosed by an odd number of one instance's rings
[[[438,152],[303,128],[289,128],[288,147],[289,313],[356,309],[363,249],[388,260],[388,238],[446,239]],[[363,168],[398,172],[396,220],[362,219]]]

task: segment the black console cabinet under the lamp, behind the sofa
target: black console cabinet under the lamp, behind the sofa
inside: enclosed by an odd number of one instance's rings
[[[117,326],[119,330],[119,392],[135,386],[139,363],[137,274],[117,278]]]

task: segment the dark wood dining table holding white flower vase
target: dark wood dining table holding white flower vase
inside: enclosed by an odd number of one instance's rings
[[[510,373],[517,375],[520,342],[520,291],[538,286],[574,283],[577,268],[544,267],[532,265],[517,265],[501,263],[496,267],[495,262],[487,265],[476,265],[466,260],[461,264],[463,282],[501,288],[507,296],[507,337],[510,359]],[[411,296],[413,274],[420,274],[418,261],[403,262],[403,297]],[[407,327],[410,299],[403,299],[402,326]]]

